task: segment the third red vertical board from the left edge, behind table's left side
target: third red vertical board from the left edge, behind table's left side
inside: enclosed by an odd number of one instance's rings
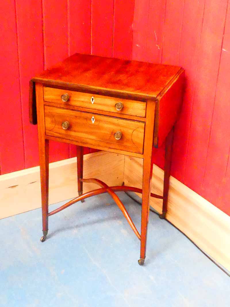
[[[43,1],[45,69],[68,56],[67,1]],[[69,145],[50,142],[50,162],[69,158]]]

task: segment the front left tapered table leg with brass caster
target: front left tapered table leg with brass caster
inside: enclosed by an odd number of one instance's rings
[[[44,242],[48,233],[48,196],[49,196],[49,140],[39,140],[42,231],[40,241]]]

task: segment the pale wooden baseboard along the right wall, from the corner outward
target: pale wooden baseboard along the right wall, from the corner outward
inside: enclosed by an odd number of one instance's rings
[[[125,185],[141,188],[142,165],[140,158],[125,157]],[[151,192],[163,195],[163,175],[154,165]],[[151,206],[162,213],[162,200],[151,198]],[[230,216],[171,177],[166,218],[230,271]]]

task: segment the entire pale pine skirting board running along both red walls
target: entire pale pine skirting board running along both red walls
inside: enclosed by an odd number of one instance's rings
[[[50,163],[49,204],[76,197],[76,158]],[[141,188],[142,159],[100,151],[84,156],[84,178],[96,177],[108,185]],[[98,188],[84,183],[83,192]],[[153,193],[163,193],[163,170],[154,165]],[[140,195],[141,196],[141,195]],[[162,212],[162,200],[151,198]],[[39,167],[0,176],[0,218],[41,207]],[[170,178],[167,220],[201,249],[230,270],[230,216],[175,178]]]

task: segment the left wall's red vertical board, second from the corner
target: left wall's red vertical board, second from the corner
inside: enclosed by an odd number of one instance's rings
[[[92,0],[92,54],[113,55],[114,0]]]

